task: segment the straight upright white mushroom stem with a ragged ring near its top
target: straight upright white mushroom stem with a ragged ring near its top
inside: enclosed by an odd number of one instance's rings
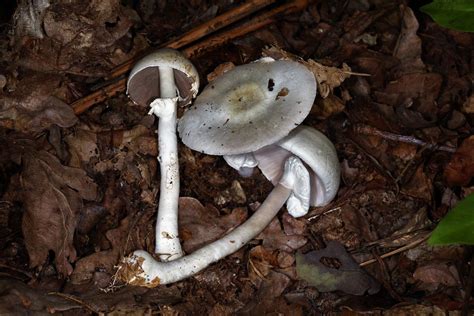
[[[160,163],[160,200],[156,220],[155,253],[163,261],[183,255],[178,237],[179,162],[176,136],[177,94],[173,68],[160,67],[160,98],[151,103],[159,117],[158,161]]]

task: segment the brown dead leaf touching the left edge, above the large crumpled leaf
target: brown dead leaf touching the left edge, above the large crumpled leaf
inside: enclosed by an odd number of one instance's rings
[[[72,108],[55,97],[61,77],[34,74],[18,83],[12,93],[0,91],[0,126],[40,132],[52,124],[71,127],[77,122]]]

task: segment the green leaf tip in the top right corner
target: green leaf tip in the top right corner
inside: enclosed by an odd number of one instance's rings
[[[434,0],[420,8],[441,26],[464,32],[474,32],[473,0]]]

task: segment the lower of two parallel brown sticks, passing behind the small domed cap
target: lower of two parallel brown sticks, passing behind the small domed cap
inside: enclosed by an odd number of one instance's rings
[[[250,32],[253,32],[255,30],[258,30],[259,28],[262,28],[266,25],[269,25],[275,22],[275,16],[278,16],[280,14],[294,13],[294,12],[301,11],[306,7],[307,3],[308,3],[307,0],[296,0],[296,1],[291,1],[290,3],[284,4],[284,5],[281,5],[259,17],[256,17],[250,20],[245,25],[237,26],[229,31],[218,34],[217,36],[213,36],[200,44],[191,46],[185,49],[183,53],[187,57],[195,57],[198,54],[202,53],[205,49],[210,49],[212,47],[217,47],[219,45],[225,44],[231,41],[232,39],[241,37],[243,35],[246,35]],[[125,72],[128,70],[129,68],[127,68]],[[106,100],[108,97],[111,97],[116,93],[124,91],[126,88],[125,84],[126,84],[126,79],[120,79],[119,81],[116,81],[110,85],[107,85],[84,98],[74,101],[71,104],[74,110],[74,113],[81,114],[85,112],[87,109],[89,109],[90,107],[92,107],[93,105]]]

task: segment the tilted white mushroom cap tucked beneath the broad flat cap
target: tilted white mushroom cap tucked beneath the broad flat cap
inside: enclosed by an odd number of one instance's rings
[[[289,156],[298,156],[309,168],[311,206],[328,204],[337,193],[341,168],[332,142],[318,130],[300,125],[274,145],[253,153],[267,179],[277,183]]]

